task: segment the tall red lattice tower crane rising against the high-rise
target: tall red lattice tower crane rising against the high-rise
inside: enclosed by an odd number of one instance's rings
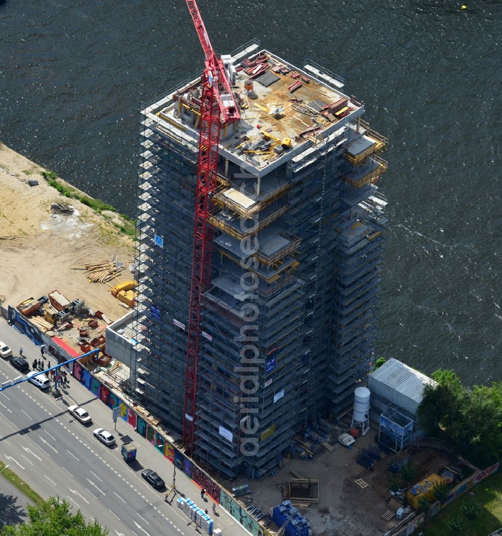
[[[205,70],[202,75],[202,104],[195,192],[194,255],[188,312],[187,375],[183,412],[183,443],[188,455],[191,455],[194,447],[202,295],[208,289],[211,279],[213,233],[208,222],[208,215],[212,213],[212,194],[216,190],[220,121],[227,124],[239,121],[240,114],[225,66],[211,46],[197,3],[195,0],[186,0],[186,2],[205,55]]]

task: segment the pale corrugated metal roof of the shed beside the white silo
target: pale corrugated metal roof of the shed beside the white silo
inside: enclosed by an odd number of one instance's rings
[[[372,381],[378,381],[414,400],[417,404],[422,401],[424,386],[437,385],[432,378],[422,374],[397,359],[391,358],[370,375],[370,390]]]

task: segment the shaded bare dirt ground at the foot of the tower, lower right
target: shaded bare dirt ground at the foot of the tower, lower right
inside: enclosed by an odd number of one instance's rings
[[[262,482],[249,482],[249,487],[253,490],[252,504],[268,512],[270,507],[282,502],[281,488],[289,482],[292,469],[304,478],[319,479],[319,504],[299,508],[300,513],[309,520],[314,536],[384,534],[397,524],[395,517],[390,522],[381,519],[389,509],[393,510],[387,503],[390,493],[386,467],[387,462],[395,455],[377,461],[373,472],[356,463],[359,450],[374,443],[374,436],[375,430],[370,429],[365,437],[357,439],[351,450],[337,443],[333,452],[325,451],[314,460],[285,460],[284,468],[274,477],[267,477]],[[333,441],[330,443],[333,444]],[[411,454],[410,463],[418,467],[415,479],[417,482],[448,463],[444,455],[430,449],[403,452],[400,454],[401,459],[408,454]],[[363,479],[368,483],[368,487],[360,488],[354,482],[357,479]],[[393,512],[395,513],[395,509]]]

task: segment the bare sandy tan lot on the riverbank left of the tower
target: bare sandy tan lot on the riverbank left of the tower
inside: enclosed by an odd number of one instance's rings
[[[6,296],[4,307],[57,289],[70,301],[85,300],[110,319],[123,316],[126,309],[108,292],[109,286],[90,284],[84,271],[70,266],[111,260],[115,254],[128,266],[134,257],[132,240],[86,205],[61,196],[40,175],[42,171],[0,144],[0,295]],[[38,180],[39,185],[30,187],[28,179]],[[76,212],[51,215],[54,202],[70,203]],[[123,280],[130,276],[124,274]]]

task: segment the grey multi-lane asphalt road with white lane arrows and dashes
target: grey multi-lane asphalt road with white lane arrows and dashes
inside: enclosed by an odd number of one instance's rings
[[[0,337],[9,346],[23,345],[29,362],[38,352],[17,332],[9,333],[10,340]],[[24,340],[17,343],[18,337]],[[17,354],[18,347],[14,348]],[[9,361],[0,358],[0,383],[18,375]],[[28,382],[0,392],[0,457],[42,496],[66,499],[88,519],[97,518],[112,535],[185,534],[187,518],[174,504],[173,508],[164,502],[166,490],[153,490],[140,471],[124,463],[119,446],[108,448],[92,435],[98,427],[115,434],[109,410],[108,422],[98,422],[87,407],[92,401],[101,404],[72,380],[63,400]],[[68,406],[75,403],[88,409],[92,425],[84,426],[68,413]],[[189,527],[187,533],[193,531]]]

